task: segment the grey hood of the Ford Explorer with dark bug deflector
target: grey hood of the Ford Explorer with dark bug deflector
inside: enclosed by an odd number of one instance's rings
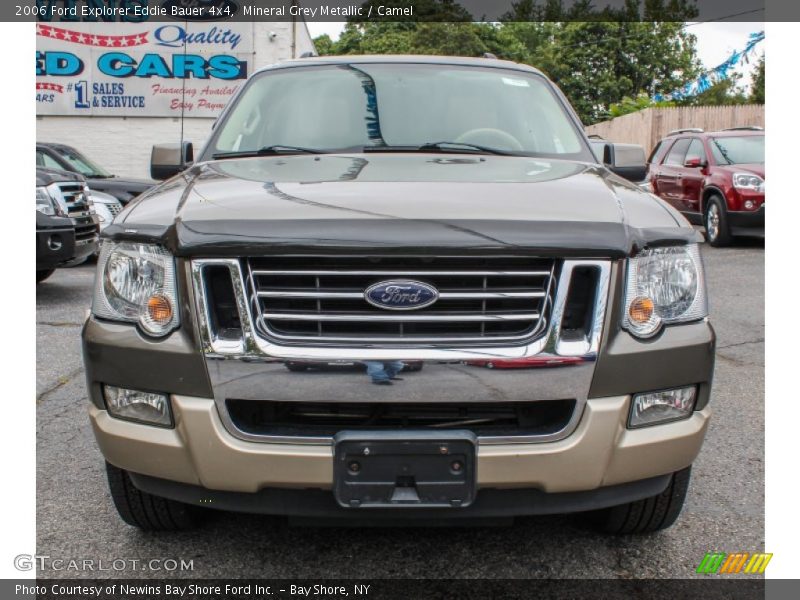
[[[129,205],[110,237],[178,255],[486,252],[621,256],[694,230],[593,164],[464,154],[294,155],[195,165]]]

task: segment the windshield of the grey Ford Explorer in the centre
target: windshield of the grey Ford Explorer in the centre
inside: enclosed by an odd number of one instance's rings
[[[325,65],[257,75],[215,131],[206,158],[278,147],[360,152],[442,142],[462,145],[446,145],[447,151],[591,160],[576,123],[543,77],[427,64]]]

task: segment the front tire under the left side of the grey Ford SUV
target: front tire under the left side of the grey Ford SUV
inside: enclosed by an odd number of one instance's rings
[[[106,463],[111,499],[120,518],[142,531],[187,531],[202,522],[201,508],[139,490],[127,471]]]

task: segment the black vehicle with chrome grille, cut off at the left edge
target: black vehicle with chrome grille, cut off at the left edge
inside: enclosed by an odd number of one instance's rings
[[[97,250],[98,223],[80,175],[36,169],[36,283]]]

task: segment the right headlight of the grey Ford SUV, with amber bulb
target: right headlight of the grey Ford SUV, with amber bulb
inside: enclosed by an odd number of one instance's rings
[[[628,260],[623,326],[638,337],[665,323],[708,316],[703,263],[697,244],[649,248]]]

